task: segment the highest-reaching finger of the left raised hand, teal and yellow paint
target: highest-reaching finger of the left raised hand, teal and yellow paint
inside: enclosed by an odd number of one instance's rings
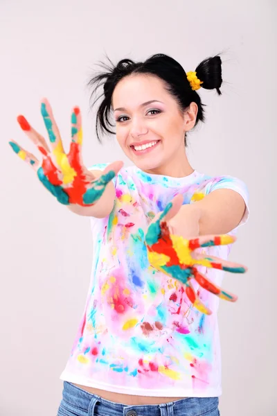
[[[59,129],[55,122],[51,105],[48,103],[46,98],[42,99],[41,102],[41,113],[44,119],[44,124],[48,132],[51,149],[53,153],[57,155],[58,153],[64,153],[64,148],[62,146],[62,139],[60,137]]]

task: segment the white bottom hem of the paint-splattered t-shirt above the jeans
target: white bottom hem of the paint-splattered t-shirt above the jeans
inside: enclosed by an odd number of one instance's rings
[[[222,389],[206,389],[205,391],[191,390],[186,388],[165,388],[163,390],[155,389],[143,389],[132,388],[125,385],[113,385],[109,383],[99,382],[93,379],[86,379],[82,376],[76,376],[69,372],[62,372],[60,380],[68,381],[69,383],[77,383],[80,385],[86,385],[87,387],[98,388],[100,390],[106,390],[108,392],[121,393],[125,395],[134,396],[150,396],[150,397],[219,397],[222,395]]]

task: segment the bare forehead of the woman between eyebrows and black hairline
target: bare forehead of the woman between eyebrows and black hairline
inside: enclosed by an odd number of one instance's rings
[[[116,107],[136,108],[150,100],[169,101],[172,96],[166,91],[163,81],[152,75],[126,76],[116,85],[111,104]]]

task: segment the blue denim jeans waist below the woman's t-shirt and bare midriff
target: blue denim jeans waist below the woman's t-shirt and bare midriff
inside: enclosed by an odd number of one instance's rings
[[[189,397],[163,404],[127,406],[64,381],[57,416],[219,416],[218,397]]]

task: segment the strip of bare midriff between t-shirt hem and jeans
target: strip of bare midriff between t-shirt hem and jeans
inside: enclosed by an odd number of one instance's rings
[[[180,399],[186,399],[186,397],[151,397],[151,396],[134,396],[134,395],[125,395],[121,393],[107,392],[106,390],[100,390],[99,388],[88,387],[87,385],[81,385],[77,383],[72,383],[77,385],[77,387],[86,390],[87,392],[102,397],[109,401],[114,401],[116,403],[127,404],[127,405],[139,405],[139,404],[161,404],[168,403],[169,401],[175,401]]]

